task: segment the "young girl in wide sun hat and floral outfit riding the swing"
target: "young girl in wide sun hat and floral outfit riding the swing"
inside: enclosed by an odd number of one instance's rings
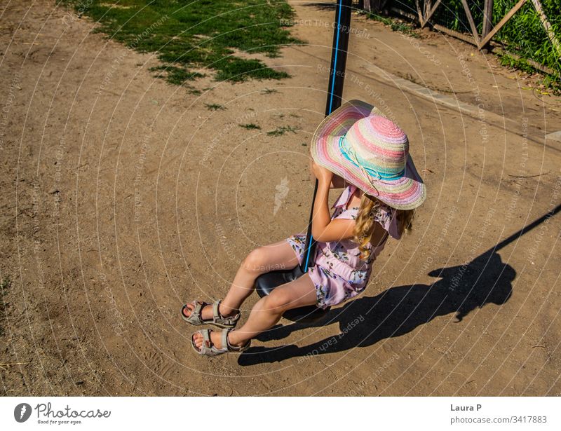
[[[222,301],[183,306],[181,315],[187,322],[223,328],[196,331],[191,344],[197,353],[241,352],[286,310],[336,306],[363,292],[372,262],[388,235],[399,239],[411,225],[414,208],[425,200],[425,186],[409,155],[407,136],[365,102],[346,102],[320,123],[313,135],[311,157],[311,170],[318,179],[312,221],[312,235],[318,241],[315,266],[259,299],[247,322],[234,330],[255,279],[268,268],[302,264],[306,238],[294,235],[250,252]],[[332,187],[344,190],[330,215],[327,200]]]

